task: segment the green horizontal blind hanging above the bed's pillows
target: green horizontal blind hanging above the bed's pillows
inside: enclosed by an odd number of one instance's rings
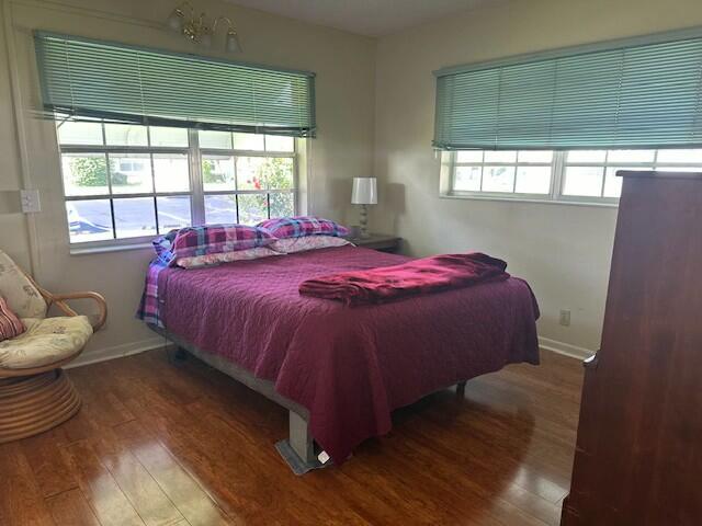
[[[44,108],[72,121],[314,137],[315,75],[35,33]]]

